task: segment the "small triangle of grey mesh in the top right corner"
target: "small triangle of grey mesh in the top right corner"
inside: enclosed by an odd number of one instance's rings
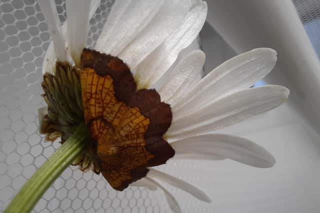
[[[320,1],[293,0],[293,3],[316,53],[320,56]]]

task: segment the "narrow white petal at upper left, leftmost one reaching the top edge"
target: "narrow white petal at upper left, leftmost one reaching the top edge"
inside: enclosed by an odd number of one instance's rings
[[[38,4],[43,12],[44,18],[48,25],[56,58],[59,61],[69,61],[65,49],[65,39],[62,33],[60,20],[56,11],[55,3],[52,0],[38,0]]]

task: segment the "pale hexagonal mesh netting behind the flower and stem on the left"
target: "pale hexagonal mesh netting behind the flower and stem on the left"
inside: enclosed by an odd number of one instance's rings
[[[55,0],[60,21],[65,2]],[[88,46],[92,47],[113,0],[101,0],[90,20]],[[38,134],[37,109],[44,106],[42,60],[50,42],[43,14],[35,0],[0,1],[0,210],[25,181],[57,149]],[[153,195],[153,197],[152,197]],[[164,212],[154,194],[128,188],[112,190],[103,177],[67,168],[44,194],[33,212],[128,213]]]

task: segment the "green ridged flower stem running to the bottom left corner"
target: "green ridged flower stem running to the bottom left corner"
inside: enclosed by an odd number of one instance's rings
[[[88,141],[87,128],[82,123],[24,184],[4,213],[29,213],[55,179],[86,147]]]

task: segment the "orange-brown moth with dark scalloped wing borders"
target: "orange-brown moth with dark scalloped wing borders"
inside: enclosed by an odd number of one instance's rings
[[[80,81],[84,118],[104,178],[116,190],[164,164],[174,150],[162,139],[171,124],[168,104],[155,90],[136,91],[128,67],[117,57],[84,49]]]

